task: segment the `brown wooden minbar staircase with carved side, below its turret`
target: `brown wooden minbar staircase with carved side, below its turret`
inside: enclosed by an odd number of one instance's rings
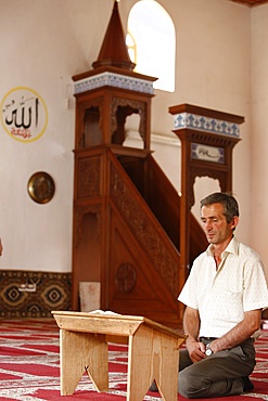
[[[79,282],[101,283],[101,309],[178,327],[180,197],[151,153],[117,145],[76,151],[75,308]],[[89,181],[90,178],[90,181]],[[191,216],[191,259],[206,247]]]

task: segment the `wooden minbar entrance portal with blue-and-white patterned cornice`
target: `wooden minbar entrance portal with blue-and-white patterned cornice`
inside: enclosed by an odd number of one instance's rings
[[[240,141],[244,117],[190,104],[169,107],[169,113],[173,131],[181,140],[180,260],[187,276],[195,178],[217,179],[222,192],[232,191],[232,150]]]

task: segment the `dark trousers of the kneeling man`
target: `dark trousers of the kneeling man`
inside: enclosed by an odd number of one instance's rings
[[[203,341],[206,344],[206,341]],[[213,353],[192,363],[187,349],[180,350],[179,392],[186,398],[213,398],[241,394],[243,381],[256,364],[252,339],[238,347]]]

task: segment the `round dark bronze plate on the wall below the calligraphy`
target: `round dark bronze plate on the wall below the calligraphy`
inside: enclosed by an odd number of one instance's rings
[[[55,184],[50,174],[38,171],[29,178],[28,194],[38,204],[50,202],[55,192]]]

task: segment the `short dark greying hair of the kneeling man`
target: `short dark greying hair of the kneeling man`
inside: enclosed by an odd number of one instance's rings
[[[228,193],[215,192],[201,200],[201,208],[214,204],[221,204],[224,207],[224,215],[228,223],[230,223],[234,216],[239,217],[239,204],[237,199]]]

